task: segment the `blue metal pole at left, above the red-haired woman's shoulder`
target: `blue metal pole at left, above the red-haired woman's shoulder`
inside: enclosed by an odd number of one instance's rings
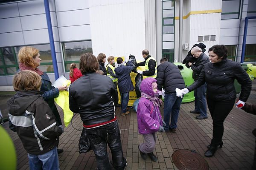
[[[49,0],[44,0],[44,8],[45,8],[45,14],[46,14],[46,20],[47,20],[49,41],[51,46],[53,70],[54,70],[55,79],[58,79],[59,78],[58,65],[57,65],[55,45],[54,45],[53,33],[52,33],[52,20],[51,20],[50,8],[49,8]]]

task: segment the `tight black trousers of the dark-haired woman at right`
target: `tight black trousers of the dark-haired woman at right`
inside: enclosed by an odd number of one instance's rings
[[[217,145],[222,141],[224,132],[223,123],[227,115],[232,110],[236,99],[229,99],[225,101],[216,101],[207,97],[207,105],[212,116],[212,142],[211,144]]]

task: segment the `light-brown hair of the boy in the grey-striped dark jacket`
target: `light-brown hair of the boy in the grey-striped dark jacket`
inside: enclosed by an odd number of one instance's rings
[[[23,70],[16,73],[13,77],[13,88],[15,91],[39,91],[41,84],[41,77],[35,71]]]

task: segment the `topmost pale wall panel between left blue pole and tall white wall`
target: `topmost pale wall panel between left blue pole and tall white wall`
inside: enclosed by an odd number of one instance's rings
[[[55,0],[56,11],[70,11],[89,8],[88,0]]]

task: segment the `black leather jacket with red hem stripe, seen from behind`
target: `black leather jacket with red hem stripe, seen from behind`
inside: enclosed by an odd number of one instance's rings
[[[115,117],[111,78],[87,72],[70,85],[70,110],[79,113],[84,125],[108,122]]]

